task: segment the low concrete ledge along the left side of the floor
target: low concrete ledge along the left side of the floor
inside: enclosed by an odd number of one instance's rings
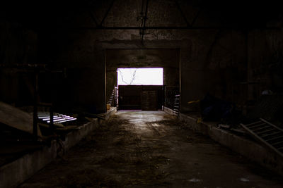
[[[98,127],[98,120],[95,119],[90,123],[86,123],[78,127],[78,130],[69,132],[63,142],[64,149],[67,151],[86,137],[91,131]],[[28,153],[18,158],[12,163],[8,163],[0,167],[0,187],[16,187],[32,175],[37,173],[48,163],[57,157],[58,144],[56,140],[52,140],[50,146],[42,146],[42,149]]]

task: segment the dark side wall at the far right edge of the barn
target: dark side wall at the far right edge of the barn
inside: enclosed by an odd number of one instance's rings
[[[248,99],[264,90],[283,93],[283,31],[255,30],[248,35]]]

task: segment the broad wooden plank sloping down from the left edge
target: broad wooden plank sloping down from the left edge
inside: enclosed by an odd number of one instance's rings
[[[18,130],[33,134],[33,115],[0,101],[0,122]],[[42,137],[37,125],[37,135]]]

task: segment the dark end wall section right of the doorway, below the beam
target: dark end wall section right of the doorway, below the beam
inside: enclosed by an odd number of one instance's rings
[[[189,49],[181,49],[181,110],[190,111],[189,101],[207,93],[240,103],[238,93],[247,79],[245,33],[233,30],[198,31]]]

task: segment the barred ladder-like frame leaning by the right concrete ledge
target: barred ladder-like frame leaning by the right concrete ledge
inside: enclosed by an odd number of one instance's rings
[[[241,126],[250,135],[264,143],[270,149],[283,157],[283,130],[272,123],[260,118],[259,121]]]

